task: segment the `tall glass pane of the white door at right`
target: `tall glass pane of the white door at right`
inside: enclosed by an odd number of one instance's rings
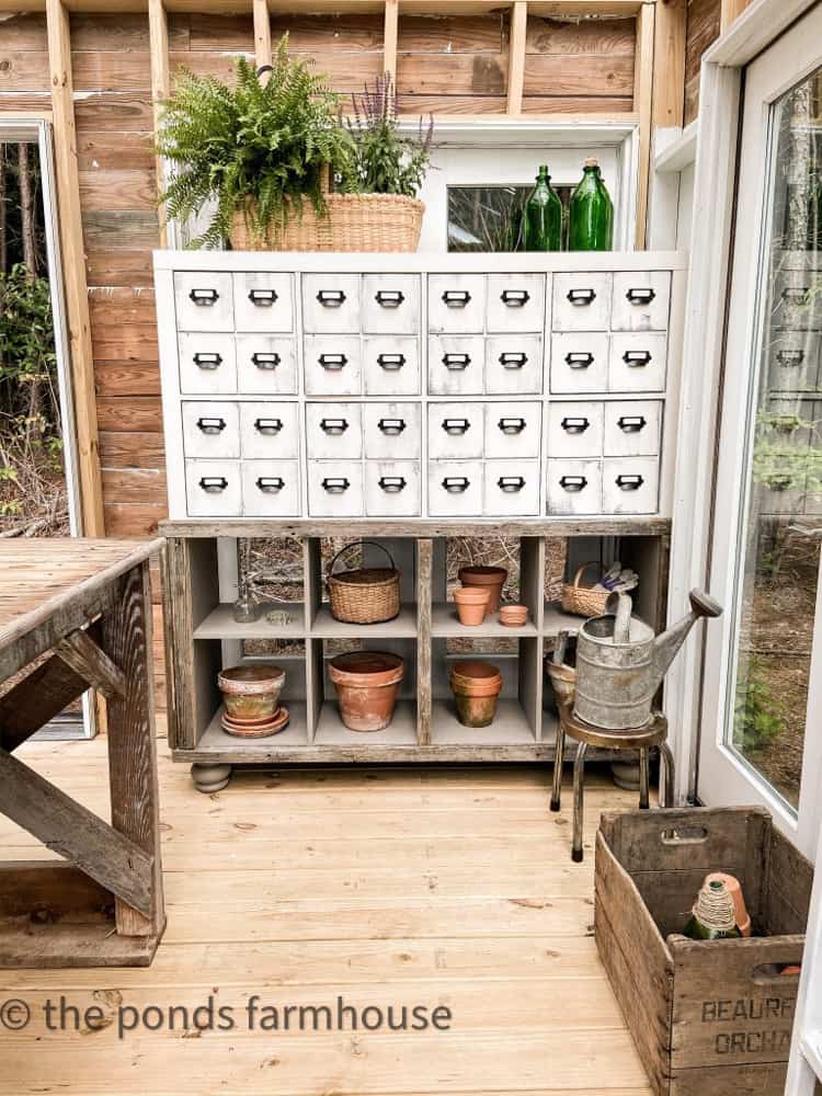
[[[797,808],[822,537],[822,70],[772,107],[731,744]]]

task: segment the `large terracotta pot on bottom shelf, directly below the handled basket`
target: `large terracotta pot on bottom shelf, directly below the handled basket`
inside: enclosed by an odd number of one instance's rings
[[[406,664],[399,654],[352,651],[329,662],[340,718],[350,731],[381,731],[393,718]]]

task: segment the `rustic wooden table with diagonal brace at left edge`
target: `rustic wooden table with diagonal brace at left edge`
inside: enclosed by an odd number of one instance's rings
[[[0,811],[65,858],[0,864],[0,967],[148,966],[162,936],[149,558],[163,546],[0,541],[0,683],[16,678]],[[89,687],[106,705],[111,825],[13,756]]]

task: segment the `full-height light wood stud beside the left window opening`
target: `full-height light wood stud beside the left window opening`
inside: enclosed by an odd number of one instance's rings
[[[71,78],[71,38],[68,11],[61,0],[46,0],[46,28],[54,114],[60,259],[71,354],[71,385],[77,432],[82,533],[87,537],[102,537],[105,533],[105,523],[98,446],[89,290],[85,284],[85,256],[80,215],[80,179],[77,168],[77,133],[75,130],[73,82]]]

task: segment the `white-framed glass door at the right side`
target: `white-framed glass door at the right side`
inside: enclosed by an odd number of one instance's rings
[[[726,616],[708,630],[698,794],[763,802],[810,847],[822,763],[819,9],[745,72],[731,277],[711,556]]]

